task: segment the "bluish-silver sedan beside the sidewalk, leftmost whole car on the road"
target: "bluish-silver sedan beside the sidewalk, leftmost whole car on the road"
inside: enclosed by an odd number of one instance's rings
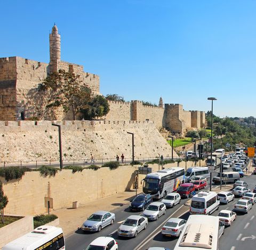
[[[100,231],[102,228],[113,224],[115,214],[107,211],[98,211],[93,213],[81,226],[84,231]]]

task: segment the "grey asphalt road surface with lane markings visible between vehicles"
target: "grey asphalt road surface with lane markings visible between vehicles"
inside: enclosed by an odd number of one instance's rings
[[[219,171],[217,169],[216,171]],[[230,170],[229,170],[230,171]],[[215,173],[216,174],[216,173]],[[214,174],[214,175],[215,175]],[[249,183],[249,188],[254,187],[254,180],[256,179],[256,176],[245,176],[243,180],[247,181]],[[208,185],[209,188],[209,185]],[[214,188],[214,185],[213,185]],[[225,188],[225,187],[223,187]],[[238,198],[235,199],[237,201]],[[91,243],[92,240],[99,236],[110,236],[117,240],[118,242],[118,248],[119,249],[147,249],[150,246],[165,246],[173,249],[175,246],[177,239],[173,238],[166,238],[164,239],[161,235],[161,228],[164,225],[165,221],[167,221],[170,217],[179,217],[182,216],[182,218],[187,219],[189,216],[189,213],[187,212],[189,207],[185,206],[184,204],[188,201],[188,199],[182,199],[181,203],[174,207],[174,209],[168,209],[166,212],[166,215],[161,216],[157,221],[149,222],[148,227],[146,230],[141,231],[136,238],[119,238],[116,234],[116,231],[120,224],[131,214],[141,214],[141,212],[130,212],[129,211],[129,205],[125,205],[121,208],[118,208],[114,211],[116,215],[116,221],[112,226],[108,226],[104,229],[102,229],[100,232],[90,233],[86,232],[84,233],[81,229],[78,229],[75,231],[75,234],[71,235],[66,239],[66,249],[68,250],[82,250],[86,249],[86,247]],[[234,203],[234,202],[233,202]],[[229,203],[228,205],[221,205],[220,209],[225,209],[228,207],[228,209],[233,209],[234,204]],[[102,207],[103,209],[103,207]],[[250,245],[249,241],[250,238],[246,238],[245,241],[243,237],[249,237],[253,235],[252,231],[247,231],[245,229],[252,228],[254,217],[250,216],[251,214],[255,214],[256,211],[256,205],[253,206],[253,210],[249,212],[248,215],[239,215],[236,222],[225,231],[225,236],[222,236],[220,239],[220,250],[234,250],[234,249],[242,249],[239,248],[241,245],[237,244],[244,244],[247,246]],[[213,215],[217,215],[218,212],[214,212]],[[251,219],[252,218],[252,219]],[[250,221],[251,220],[251,221]],[[250,223],[250,224],[248,224]],[[246,226],[247,225],[247,226]],[[245,229],[244,229],[245,227]],[[234,230],[235,228],[235,230]],[[251,235],[249,234],[251,232]],[[243,234],[241,239],[236,240],[239,234]],[[232,239],[232,240],[230,240]],[[256,240],[256,239],[255,239]],[[240,243],[241,241],[241,243]],[[256,243],[256,241],[255,241]],[[236,248],[234,248],[234,247]],[[250,245],[251,246],[251,245]],[[233,247],[233,248],[231,248]],[[254,249],[254,248],[247,248],[247,249]]]

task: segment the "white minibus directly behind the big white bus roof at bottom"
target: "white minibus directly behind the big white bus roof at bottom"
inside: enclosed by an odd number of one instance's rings
[[[190,213],[191,214],[206,214],[209,215],[215,210],[218,210],[220,201],[217,193],[213,191],[201,191],[191,199]]]

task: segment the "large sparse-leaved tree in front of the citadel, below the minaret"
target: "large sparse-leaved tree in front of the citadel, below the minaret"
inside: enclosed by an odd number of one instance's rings
[[[88,88],[78,74],[69,73],[65,70],[53,72],[49,77],[39,85],[39,91],[44,91],[48,97],[46,107],[55,109],[62,107],[67,113],[71,110],[73,119],[76,120],[76,114],[86,106],[91,99],[91,89]]]

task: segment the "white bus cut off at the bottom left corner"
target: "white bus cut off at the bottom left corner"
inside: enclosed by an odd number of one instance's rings
[[[3,250],[65,250],[65,239],[61,228],[41,226],[11,241]]]

